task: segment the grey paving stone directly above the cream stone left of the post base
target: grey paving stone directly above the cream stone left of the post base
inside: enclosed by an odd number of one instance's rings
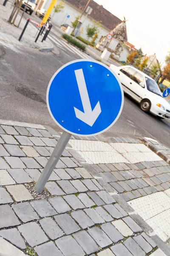
[[[13,177],[17,183],[33,182],[28,173],[24,169],[8,169],[8,173]]]

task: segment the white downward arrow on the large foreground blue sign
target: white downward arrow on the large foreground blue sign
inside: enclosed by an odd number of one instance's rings
[[[98,118],[99,114],[102,112],[101,108],[100,108],[100,103],[98,101],[94,110],[92,111],[90,99],[88,96],[88,90],[87,90],[87,87],[85,84],[85,77],[84,77],[83,71],[82,71],[82,69],[79,69],[79,70],[75,70],[74,72],[76,75],[77,84],[79,87],[79,93],[80,93],[80,97],[82,100],[82,106],[83,106],[83,110],[84,110],[84,113],[83,113],[82,111],[80,111],[79,109],[74,107],[76,117],[78,119],[80,119],[82,122],[85,122],[86,124],[88,124],[90,126],[93,126],[94,122]]]

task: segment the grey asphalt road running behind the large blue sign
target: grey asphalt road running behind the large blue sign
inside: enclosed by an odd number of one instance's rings
[[[56,70],[78,58],[57,47],[45,53],[0,44],[0,119],[50,125],[60,131],[48,113],[46,90]],[[170,122],[142,112],[125,96],[119,120],[104,135],[152,137],[170,147]]]

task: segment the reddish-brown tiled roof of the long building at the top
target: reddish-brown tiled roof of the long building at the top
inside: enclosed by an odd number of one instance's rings
[[[88,0],[67,0],[66,2],[70,3],[72,6],[76,7],[80,11],[83,11]],[[93,11],[89,15],[92,19],[97,21],[102,21],[102,25],[107,27],[108,29],[114,29],[119,23],[122,22],[118,17],[113,15],[111,12],[103,8],[102,5],[94,2],[93,0],[90,1],[89,5]]]

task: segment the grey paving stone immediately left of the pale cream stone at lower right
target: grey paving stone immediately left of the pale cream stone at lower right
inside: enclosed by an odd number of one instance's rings
[[[111,223],[102,224],[101,228],[114,243],[124,239],[121,233]]]

